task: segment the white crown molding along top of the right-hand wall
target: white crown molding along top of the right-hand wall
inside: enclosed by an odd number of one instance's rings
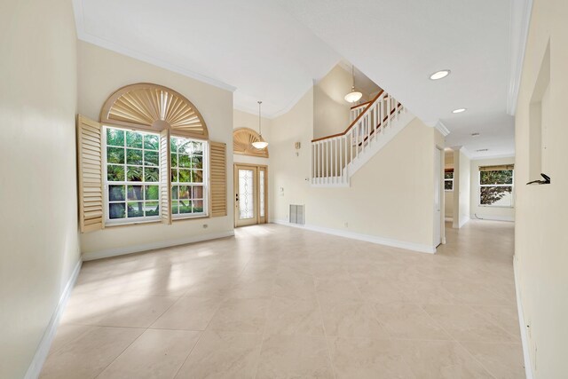
[[[526,41],[529,35],[533,0],[511,2],[509,13],[509,88],[507,90],[507,113],[517,111],[518,90],[521,85]]]

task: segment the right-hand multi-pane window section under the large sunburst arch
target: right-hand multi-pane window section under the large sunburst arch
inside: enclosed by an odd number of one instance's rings
[[[171,214],[173,217],[203,216],[205,209],[206,143],[171,137]]]

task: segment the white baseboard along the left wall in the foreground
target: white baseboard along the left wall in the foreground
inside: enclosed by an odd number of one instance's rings
[[[37,345],[36,354],[34,355],[34,359],[32,359],[32,362],[28,367],[26,376],[24,376],[25,379],[36,379],[42,371],[43,363],[45,362],[45,359],[47,359],[47,355],[49,354],[51,348],[51,342],[53,341],[53,337],[55,336],[55,332],[57,331],[57,327],[59,326],[59,319],[61,318],[63,311],[65,311],[67,300],[69,299],[69,296],[71,296],[71,291],[73,291],[73,288],[75,287],[75,281],[79,276],[82,264],[83,262],[81,260],[77,262],[77,265],[75,265],[75,269],[71,274],[71,278],[67,280],[67,285],[61,293],[61,296],[59,296],[59,304],[57,304],[55,312],[53,312],[53,314],[51,315],[51,320],[49,324],[47,324],[47,328],[45,328],[42,340]]]

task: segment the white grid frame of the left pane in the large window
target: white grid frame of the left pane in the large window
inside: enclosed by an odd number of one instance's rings
[[[132,129],[132,128],[123,128],[123,127],[118,127],[118,126],[114,126],[114,125],[107,125],[104,124],[103,125],[103,130],[102,130],[102,147],[103,147],[103,152],[102,152],[102,157],[103,157],[103,186],[104,186],[104,209],[105,209],[105,225],[108,226],[113,226],[113,225],[136,225],[136,224],[146,224],[146,223],[154,223],[156,221],[160,221],[160,211],[158,211],[158,215],[156,216],[143,216],[143,217],[128,217],[128,186],[142,186],[143,190],[145,186],[158,186],[158,193],[161,192],[161,183],[158,180],[158,182],[146,182],[146,181],[142,181],[142,182],[129,182],[127,180],[124,181],[120,181],[120,182],[110,182],[108,181],[108,173],[107,173],[107,162],[106,162],[106,152],[107,152],[107,147],[119,147],[119,146],[107,146],[106,145],[106,130],[107,129],[117,129],[117,130],[124,130],[124,167],[127,167],[127,163],[126,163],[126,149],[128,149],[128,147],[126,146],[126,131],[136,131],[137,133],[141,133],[141,134],[152,134],[152,135],[156,135],[158,137],[158,141],[160,140],[160,133],[154,133],[151,131],[146,131],[146,130],[137,130],[137,129]],[[136,147],[134,147],[136,148]],[[144,145],[142,146],[142,152],[144,153],[146,149],[144,148]],[[154,151],[154,150],[151,150]],[[160,162],[160,148],[158,148],[157,150],[158,153],[158,162]],[[143,155],[144,156],[144,155]],[[140,167],[143,167],[144,164]],[[138,166],[137,166],[138,167]],[[158,169],[158,178],[160,178],[160,164],[158,163],[157,166]],[[126,170],[124,171],[124,175],[126,176]],[[126,177],[125,177],[126,178]],[[125,186],[125,191],[124,191],[124,196],[125,196],[125,217],[124,218],[110,218],[110,198],[109,198],[109,193],[108,193],[108,186]],[[160,204],[160,199],[155,200],[158,202],[159,207],[161,207]],[[122,202],[122,201],[117,201],[117,202]]]

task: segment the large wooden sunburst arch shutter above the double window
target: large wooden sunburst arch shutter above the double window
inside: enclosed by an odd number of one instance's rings
[[[115,91],[101,109],[100,122],[208,139],[203,117],[183,95],[153,83],[137,83]]]

